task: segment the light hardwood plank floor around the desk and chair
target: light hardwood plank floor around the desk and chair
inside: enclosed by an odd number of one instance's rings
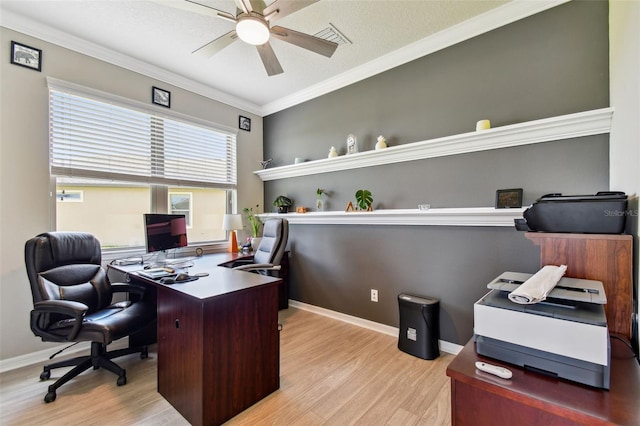
[[[280,312],[280,389],[226,425],[449,425],[453,355],[426,361],[397,339],[303,310]],[[0,375],[2,425],[187,425],[156,391],[156,353],[116,360],[128,383],[89,370],[43,401],[41,365]],[[52,372],[52,379],[61,370]]]

